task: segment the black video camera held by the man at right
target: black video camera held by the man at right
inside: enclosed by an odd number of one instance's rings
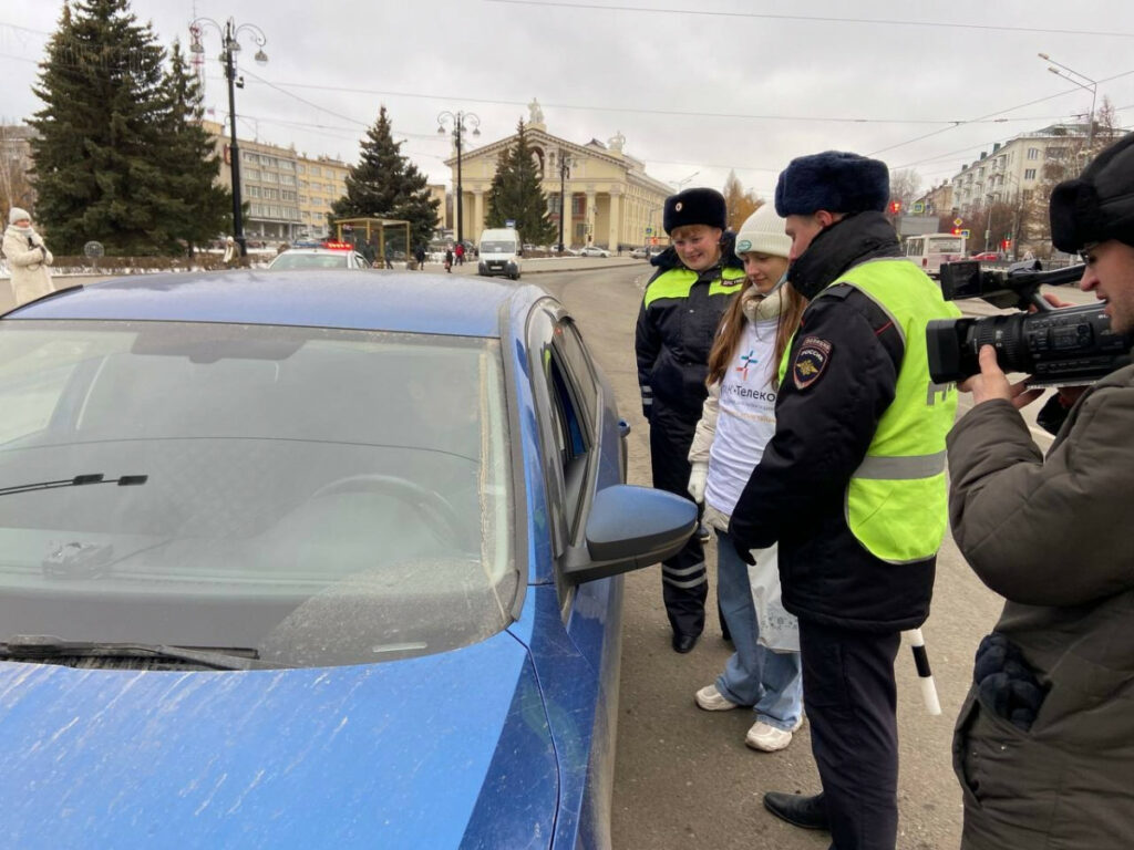
[[[929,323],[929,372],[937,383],[963,381],[981,371],[982,346],[993,346],[1005,372],[1026,372],[1031,386],[1089,384],[1131,362],[1134,338],[1110,330],[1102,304],[1055,308],[1040,296],[1044,283],[1070,283],[1084,266],[1040,271],[1039,261],[1015,263],[1007,271],[981,269],[976,261],[941,264],[946,300],[983,298],[1013,313],[980,318],[940,318]]]

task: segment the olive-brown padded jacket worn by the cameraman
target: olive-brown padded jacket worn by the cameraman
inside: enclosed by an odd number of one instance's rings
[[[1008,402],[949,435],[949,517],[1047,689],[1017,729],[971,694],[955,758],[965,847],[1129,847],[1134,835],[1134,366],[1095,383],[1044,458]]]

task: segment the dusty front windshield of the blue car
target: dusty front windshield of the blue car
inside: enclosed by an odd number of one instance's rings
[[[3,323],[0,639],[312,666],[496,634],[519,587],[499,348]]]

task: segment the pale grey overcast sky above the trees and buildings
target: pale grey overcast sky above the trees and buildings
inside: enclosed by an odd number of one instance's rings
[[[585,144],[621,131],[626,152],[661,180],[699,172],[687,185],[720,188],[735,169],[745,188],[768,197],[793,156],[839,148],[874,154],[891,170],[914,168],[928,188],[993,142],[1089,111],[1091,92],[1048,73],[1039,52],[1097,80],[1099,103],[1109,96],[1118,122],[1134,126],[1129,0],[704,0],[701,12],[667,11],[679,5],[689,3],[134,0],[132,8],[167,45],[187,44],[194,16],[223,23],[237,8],[237,24],[263,29],[266,66],[252,62],[255,44],[242,35],[242,138],[349,162],[384,103],[403,152],[431,182],[449,180],[440,111],[475,113],[475,146],[511,134],[538,97],[550,133]],[[41,107],[31,86],[61,8],[0,5],[6,121]],[[205,101],[225,120],[219,46],[206,31]]]

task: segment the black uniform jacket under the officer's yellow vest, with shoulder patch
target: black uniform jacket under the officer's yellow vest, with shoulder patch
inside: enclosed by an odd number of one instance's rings
[[[789,280],[813,292],[880,260],[908,262],[885,216],[858,213],[821,231],[792,265]],[[814,359],[801,364],[802,342],[826,351],[818,372]],[[776,435],[741,495],[729,534],[745,549],[779,541],[784,606],[801,619],[881,632],[913,628],[929,615],[936,554],[889,563],[871,554],[847,522],[850,478],[895,399],[903,357],[890,317],[846,284],[812,300],[786,356]]]

